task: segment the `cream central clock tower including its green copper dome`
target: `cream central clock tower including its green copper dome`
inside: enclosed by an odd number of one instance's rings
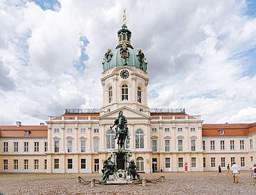
[[[115,50],[107,49],[102,60],[102,111],[127,106],[136,111],[148,111],[147,58],[143,50],[134,50],[131,31],[126,24],[118,30]]]

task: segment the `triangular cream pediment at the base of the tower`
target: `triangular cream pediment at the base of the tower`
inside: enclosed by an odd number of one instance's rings
[[[127,106],[122,106],[119,109],[116,109],[114,111],[110,111],[109,113],[106,113],[102,116],[100,116],[99,119],[106,119],[106,118],[117,118],[119,112],[122,111],[123,115],[125,115],[125,117],[128,118],[150,118],[149,115],[145,115],[144,113],[141,113],[140,111],[136,111],[134,109],[131,109]]]

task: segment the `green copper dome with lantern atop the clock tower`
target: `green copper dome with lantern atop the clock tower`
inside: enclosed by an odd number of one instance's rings
[[[138,48],[134,50],[131,44],[131,31],[126,25],[122,25],[122,29],[118,30],[118,44],[115,50],[109,48],[102,60],[103,72],[113,66],[136,66],[147,72],[147,58],[143,51]]]

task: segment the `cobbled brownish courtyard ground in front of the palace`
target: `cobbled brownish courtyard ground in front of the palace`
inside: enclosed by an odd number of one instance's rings
[[[156,180],[165,176],[164,183],[138,185],[98,185],[91,187],[78,183],[101,179],[100,174],[3,174],[0,173],[0,194],[256,194],[256,186],[250,171],[241,171],[239,183],[232,176],[217,176],[215,171],[170,172],[140,174],[143,178]]]

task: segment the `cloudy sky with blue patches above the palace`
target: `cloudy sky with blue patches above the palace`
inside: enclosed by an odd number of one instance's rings
[[[148,106],[256,122],[256,1],[0,1],[0,124],[102,106],[102,57],[127,9]]]

